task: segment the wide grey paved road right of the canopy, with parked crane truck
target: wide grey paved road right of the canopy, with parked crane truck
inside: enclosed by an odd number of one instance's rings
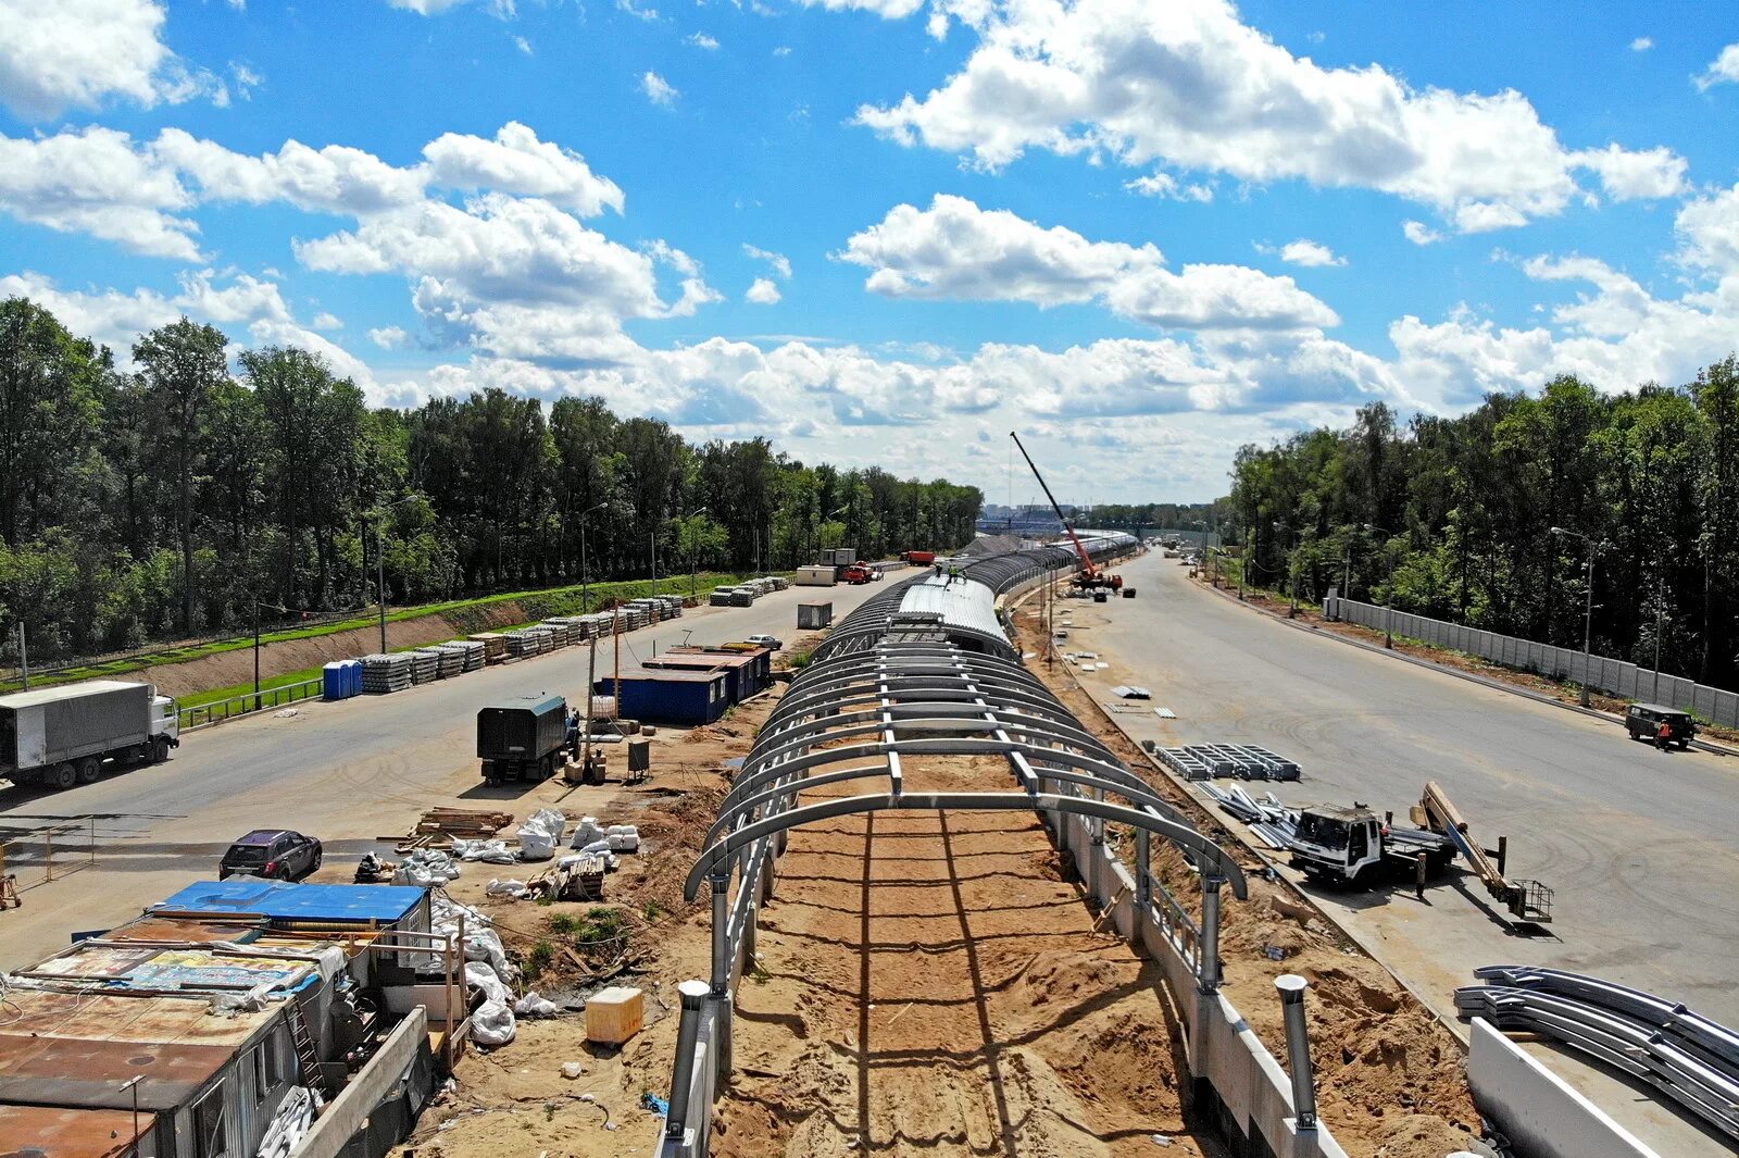
[[[1426,904],[1410,888],[1306,887],[1450,1021],[1473,967],[1522,962],[1739,1026],[1739,758],[1662,753],[1617,723],[1289,626],[1158,551],[1118,570],[1137,596],[1059,602],[1075,621],[1061,647],[1111,664],[1083,676],[1101,702],[1122,702],[1118,683],[1153,692],[1146,711],[1115,715],[1132,737],[1271,748],[1304,779],[1247,788],[1289,805],[1358,800],[1405,817],[1435,779],[1487,847],[1509,836],[1511,876],[1556,890],[1549,934],[1522,937],[1471,875],[1428,888]]]

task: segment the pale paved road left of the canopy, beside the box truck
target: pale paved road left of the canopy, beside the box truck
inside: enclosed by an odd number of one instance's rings
[[[798,602],[831,600],[838,617],[880,589],[790,588],[753,607],[694,609],[623,635],[621,664],[626,671],[654,647],[685,642],[725,643],[769,633],[790,643],[798,635]],[[210,878],[223,850],[250,828],[320,836],[330,861],[379,849],[374,836],[407,831],[431,805],[513,810],[523,789],[490,788],[478,775],[476,709],[503,695],[577,697],[586,683],[586,652],[567,647],[393,695],[308,701],[289,716],[245,716],[184,735],[163,765],[63,793],[0,782],[0,843],[19,842],[9,868],[21,885],[43,875],[40,836],[30,833],[57,821],[96,831],[89,866],[28,888],[24,908],[0,913],[0,970],[40,960],[64,946],[73,930],[108,928],[193,880]],[[614,649],[603,640],[598,676],[609,675],[612,662]],[[73,869],[87,843],[85,836],[59,840],[56,871]]]

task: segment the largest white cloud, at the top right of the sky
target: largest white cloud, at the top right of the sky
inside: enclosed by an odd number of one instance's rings
[[[1520,92],[1323,68],[1226,0],[1026,0],[976,28],[960,71],[923,97],[859,108],[859,123],[986,167],[1042,148],[1372,188],[1468,233],[1556,214],[1577,193],[1574,156]]]

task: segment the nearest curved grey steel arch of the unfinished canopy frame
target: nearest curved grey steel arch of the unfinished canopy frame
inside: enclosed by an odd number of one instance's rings
[[[1123,805],[1106,803],[1103,800],[1090,800],[1087,796],[1066,796],[1061,793],[903,793],[903,795],[885,795],[885,796],[845,796],[840,800],[824,800],[821,803],[803,805],[802,809],[790,809],[786,812],[777,812],[774,815],[755,821],[753,824],[744,824],[737,831],[725,836],[722,842],[704,849],[694,868],[689,869],[687,880],[682,883],[682,895],[685,901],[694,901],[701,892],[701,882],[713,878],[715,882],[725,882],[730,878],[730,864],[736,854],[753,845],[763,836],[772,836],[791,828],[800,828],[814,821],[831,821],[842,815],[854,815],[861,812],[896,812],[896,810],[960,810],[960,812],[1016,812],[1016,810],[1036,810],[1036,812],[1075,812],[1080,815],[1096,817],[1101,821],[1113,821],[1116,824],[1129,824],[1132,828],[1141,828],[1158,836],[1170,840],[1172,843],[1189,849],[1203,862],[1214,866],[1214,876],[1219,876],[1228,885],[1231,885],[1231,894],[1240,901],[1249,897],[1249,885],[1243,880],[1243,869],[1238,862],[1226,855],[1226,850],[1216,845],[1212,840],[1189,828],[1188,824],[1174,824],[1158,815],[1146,812],[1137,812]],[[723,866],[723,871],[718,866]],[[716,888],[715,888],[716,892]]]

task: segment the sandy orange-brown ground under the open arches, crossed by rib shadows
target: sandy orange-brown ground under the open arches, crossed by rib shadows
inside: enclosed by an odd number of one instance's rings
[[[1000,758],[906,760],[1002,791]],[[849,786],[821,789],[849,795]],[[859,786],[856,791],[863,791]],[[791,833],[737,996],[713,1153],[1219,1155],[1189,1135],[1158,970],[1103,928],[1026,812]]]

